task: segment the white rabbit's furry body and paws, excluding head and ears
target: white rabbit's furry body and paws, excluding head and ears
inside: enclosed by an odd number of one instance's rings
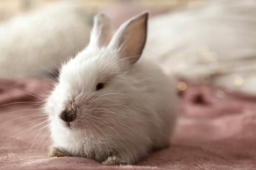
[[[83,133],[76,130],[65,132],[67,127],[53,120],[51,131],[54,146],[64,148],[71,156],[89,157],[98,161],[104,161],[111,152],[115,155],[119,153],[128,164],[134,164],[152,148],[168,146],[176,113],[177,100],[170,98],[175,97],[175,92],[170,88],[174,84],[167,81],[168,77],[162,74],[162,70],[146,62],[138,62],[130,73],[119,74],[115,79],[128,78],[126,81],[130,83],[123,88],[119,87],[118,91],[113,89],[108,92],[123,94],[114,94],[117,99],[106,103],[115,105],[105,107],[113,112],[106,112],[111,118],[101,115],[98,120],[91,120],[91,127],[88,126],[88,130]],[[127,75],[123,77],[122,74]],[[113,96],[106,97],[111,99]]]

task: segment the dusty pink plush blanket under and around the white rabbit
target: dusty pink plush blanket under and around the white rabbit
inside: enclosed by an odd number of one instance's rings
[[[52,80],[0,81],[0,169],[256,169],[255,96],[189,83],[172,145],[135,166],[102,166],[81,157],[48,158],[47,117],[40,104]]]

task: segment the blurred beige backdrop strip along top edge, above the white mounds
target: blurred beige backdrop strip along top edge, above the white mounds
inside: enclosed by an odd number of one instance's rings
[[[0,20],[25,13],[61,0],[0,0]],[[62,0],[63,1],[63,0]],[[155,10],[170,10],[182,6],[194,6],[203,0],[72,0],[86,10],[97,12],[115,3],[136,3]]]

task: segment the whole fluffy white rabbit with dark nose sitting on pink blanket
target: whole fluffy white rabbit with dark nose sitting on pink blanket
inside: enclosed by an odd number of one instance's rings
[[[47,98],[49,157],[135,164],[169,145],[177,113],[175,85],[157,65],[139,60],[147,21],[148,13],[141,13],[111,39],[110,19],[94,17],[88,47],[63,65]]]

